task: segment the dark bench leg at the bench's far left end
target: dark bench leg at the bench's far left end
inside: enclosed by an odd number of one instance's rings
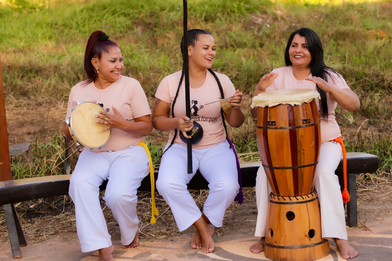
[[[14,204],[3,205],[3,209],[12,255],[14,259],[21,258],[22,254],[20,252],[20,247],[26,246],[27,243],[20,225],[18,213],[16,213]]]

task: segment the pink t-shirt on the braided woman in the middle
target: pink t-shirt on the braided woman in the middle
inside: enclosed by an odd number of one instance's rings
[[[229,77],[215,72],[223,88],[225,98],[232,96],[236,90]],[[172,104],[176,96],[178,84],[180,83],[181,71],[166,76],[158,86],[155,97]],[[210,72],[206,72],[205,82],[200,88],[189,88],[191,101],[191,118],[198,122],[203,128],[203,138],[192,146],[192,148],[202,149],[214,146],[226,139],[225,128],[221,117],[220,102],[211,103],[221,99],[218,83]],[[207,104],[206,103],[211,103]],[[171,110],[170,110],[171,113]],[[180,92],[174,104],[174,117],[186,115],[185,108],[185,79],[183,79]],[[174,130],[169,135],[169,141],[174,137]],[[177,132],[175,143],[183,144],[180,133]]]

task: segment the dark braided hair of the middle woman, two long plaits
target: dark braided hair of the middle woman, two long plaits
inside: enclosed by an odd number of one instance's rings
[[[189,46],[194,46],[195,43],[199,40],[199,36],[201,34],[209,34],[209,35],[211,35],[211,33],[209,31],[203,30],[203,29],[190,29],[190,30],[188,30],[188,45]],[[182,54],[182,61],[184,61],[184,55],[185,55],[184,54],[184,36],[181,39],[181,46],[180,46],[180,48],[181,48],[181,54]],[[225,95],[223,93],[223,88],[222,88],[222,85],[221,85],[221,83],[220,83],[220,81],[218,79],[218,76],[216,76],[215,72],[211,68],[209,68],[208,71],[211,72],[211,74],[214,76],[216,82],[218,83],[220,94],[221,94],[221,99],[223,99],[225,97]],[[172,102],[172,106],[171,106],[171,114],[172,114],[173,118],[174,118],[174,104],[176,103],[176,100],[177,100],[177,97],[178,97],[178,93],[180,92],[180,87],[181,87],[181,83],[182,83],[182,80],[184,78],[184,75],[185,75],[184,62],[182,62],[182,73],[181,73],[181,77],[180,77],[180,83],[178,84],[176,96],[174,96],[174,99],[173,99],[173,102]],[[221,108],[221,116],[222,116],[223,126],[225,127],[226,140],[229,142],[229,137],[227,135],[227,126],[226,126],[226,122],[225,122],[225,115],[223,113],[223,109],[222,108]],[[172,141],[170,142],[169,147],[167,147],[167,149],[165,151],[163,151],[162,154],[164,154],[174,144],[174,140],[177,137],[177,132],[178,132],[177,128],[174,129],[174,137],[173,137]],[[230,142],[229,142],[229,144],[230,144]],[[230,148],[231,148],[231,145],[230,145]]]

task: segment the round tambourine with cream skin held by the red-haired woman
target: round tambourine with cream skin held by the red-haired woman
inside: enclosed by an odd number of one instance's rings
[[[79,101],[72,110],[71,117],[66,119],[71,137],[78,147],[101,149],[109,140],[111,130],[102,132],[107,126],[96,123],[98,118],[95,115],[100,111],[103,108],[92,101]]]

